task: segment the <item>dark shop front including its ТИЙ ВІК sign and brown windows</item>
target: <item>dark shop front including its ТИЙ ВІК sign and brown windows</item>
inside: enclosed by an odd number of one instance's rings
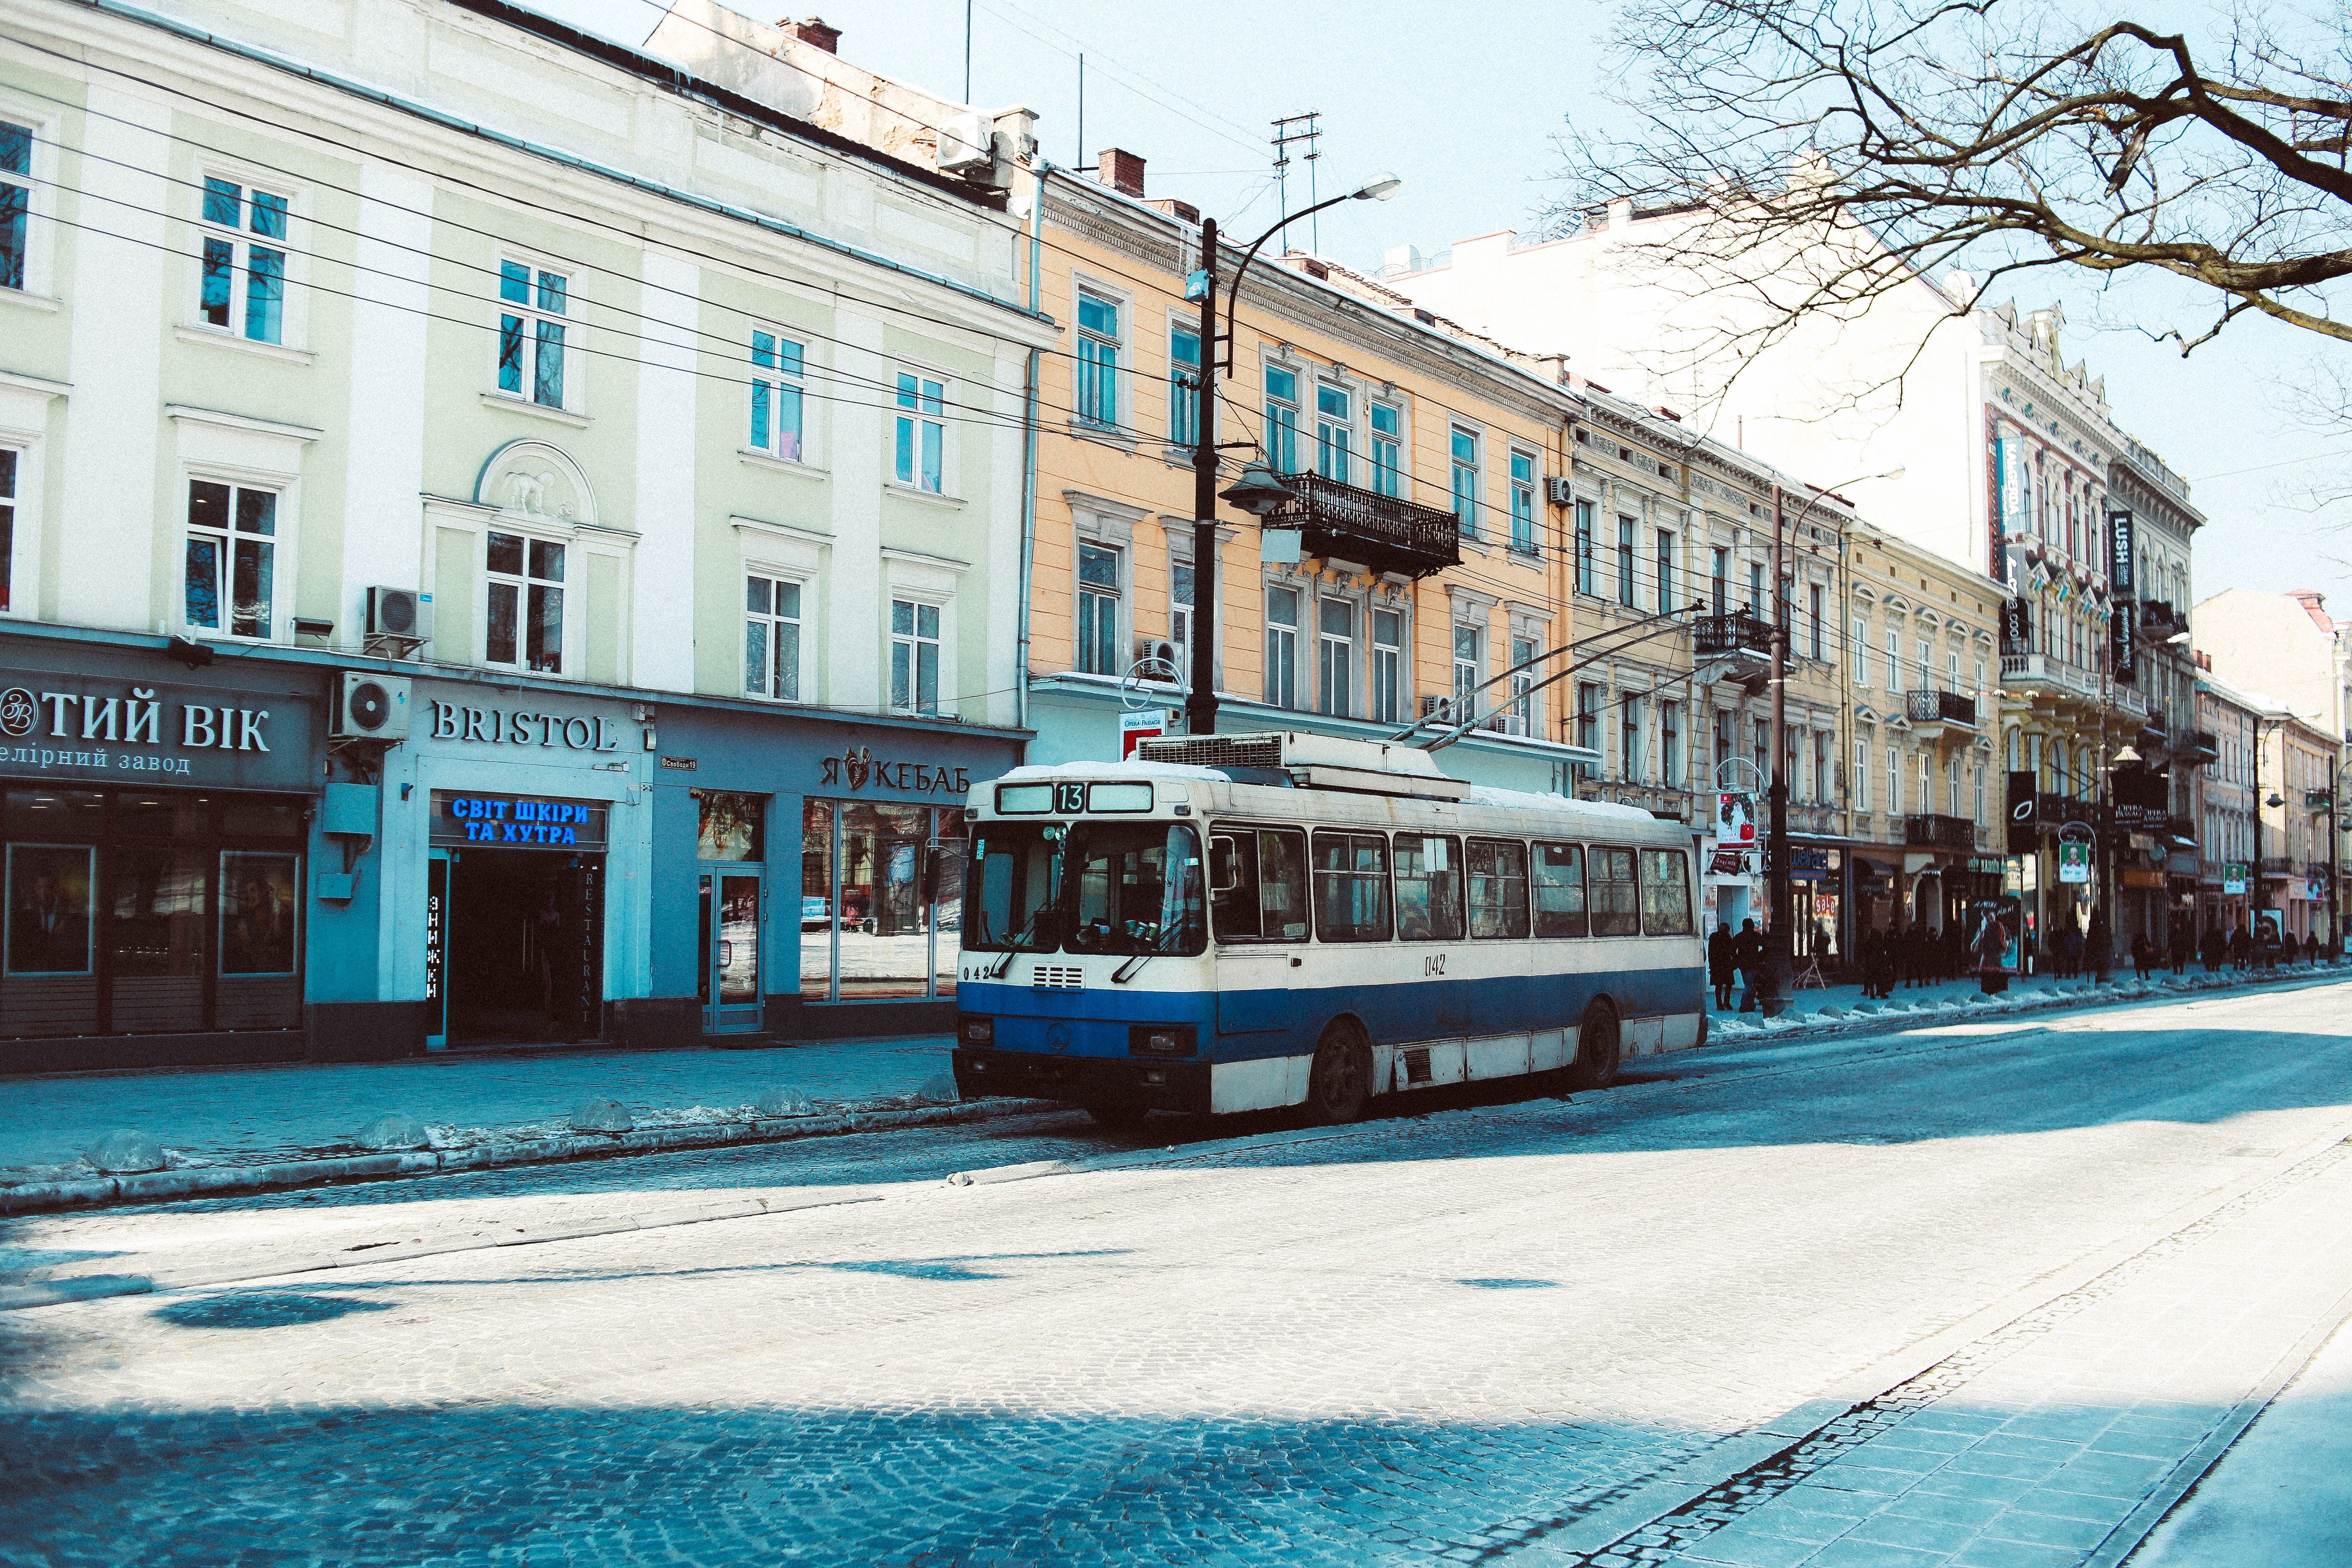
[[[0,1072],[306,1056],[318,675],[0,639]]]

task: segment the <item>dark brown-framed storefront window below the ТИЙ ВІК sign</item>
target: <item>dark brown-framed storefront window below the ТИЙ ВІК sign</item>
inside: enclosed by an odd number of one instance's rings
[[[7,792],[0,1034],[301,1023],[301,802]]]

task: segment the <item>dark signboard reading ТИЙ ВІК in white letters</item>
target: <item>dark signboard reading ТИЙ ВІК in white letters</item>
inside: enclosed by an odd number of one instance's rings
[[[294,679],[294,677],[280,677]],[[0,771],[308,790],[313,708],[287,691],[0,670]]]

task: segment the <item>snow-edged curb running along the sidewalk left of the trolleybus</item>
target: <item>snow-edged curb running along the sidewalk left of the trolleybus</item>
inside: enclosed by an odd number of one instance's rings
[[[621,1154],[724,1150],[755,1143],[793,1143],[797,1138],[833,1138],[842,1133],[891,1133],[910,1126],[995,1121],[1000,1117],[1025,1117],[1044,1110],[1068,1107],[1056,1100],[974,1100],[962,1105],[917,1105],[913,1110],[842,1112],[837,1117],[706,1121],[696,1126],[647,1128],[642,1133],[572,1133],[567,1138],[532,1138],[524,1143],[480,1143],[466,1150],[348,1154],[339,1159],[292,1159],[275,1166],[148,1171],[141,1175],[99,1175],[73,1182],[24,1182],[16,1187],[0,1187],[0,1215],[59,1213],[64,1208],[96,1208],[106,1204],[160,1204],[228,1192],[268,1192],[282,1187],[315,1187],[322,1182],[440,1175],[449,1171],[546,1166],[574,1159],[612,1159]]]

